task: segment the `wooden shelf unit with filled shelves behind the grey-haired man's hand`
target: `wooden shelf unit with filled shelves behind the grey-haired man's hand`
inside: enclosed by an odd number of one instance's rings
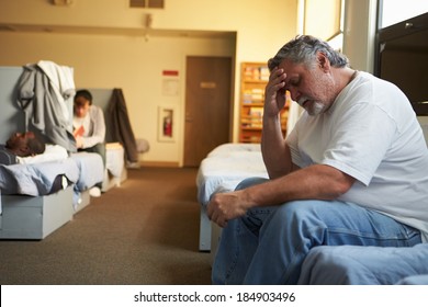
[[[264,88],[269,80],[269,69],[264,62],[243,62],[240,71],[240,120],[239,141],[260,143],[263,118]],[[285,134],[288,103],[281,112],[281,126]]]

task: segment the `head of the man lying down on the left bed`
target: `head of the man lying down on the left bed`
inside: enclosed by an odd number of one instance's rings
[[[46,144],[32,132],[14,133],[5,143],[5,148],[20,157],[30,157],[43,154]]]

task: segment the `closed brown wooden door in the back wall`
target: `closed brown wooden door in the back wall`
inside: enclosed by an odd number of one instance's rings
[[[184,167],[199,167],[216,146],[229,141],[232,58],[187,58]]]

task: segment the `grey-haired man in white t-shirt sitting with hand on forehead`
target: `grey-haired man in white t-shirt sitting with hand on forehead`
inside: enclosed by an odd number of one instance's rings
[[[261,150],[270,180],[211,198],[215,284],[295,284],[317,246],[428,240],[428,150],[405,94],[299,36],[269,60]],[[305,109],[284,139],[285,91]],[[393,265],[393,264],[392,264]]]

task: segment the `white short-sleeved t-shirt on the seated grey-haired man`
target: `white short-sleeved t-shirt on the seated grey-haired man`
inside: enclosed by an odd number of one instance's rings
[[[360,71],[326,113],[305,112],[286,143],[296,166],[327,164],[357,179],[338,200],[420,229],[428,241],[428,149],[396,86]]]

